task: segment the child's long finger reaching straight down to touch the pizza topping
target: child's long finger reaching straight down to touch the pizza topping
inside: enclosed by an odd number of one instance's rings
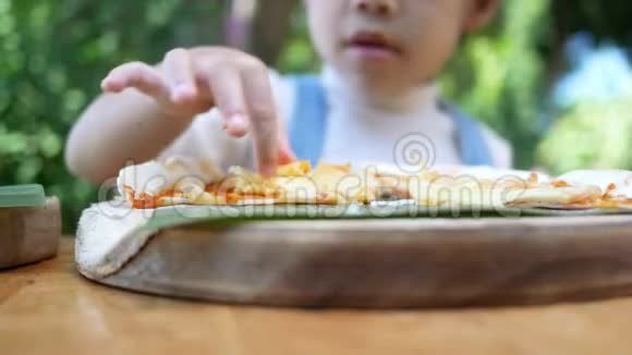
[[[255,63],[242,70],[244,96],[248,105],[255,156],[265,175],[276,172],[279,162],[279,124],[268,70]]]

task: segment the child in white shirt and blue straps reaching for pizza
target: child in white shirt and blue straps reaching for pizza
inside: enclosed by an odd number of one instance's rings
[[[326,63],[320,76],[279,77],[219,47],[174,49],[156,66],[122,64],[74,127],[70,169],[100,183],[129,160],[174,155],[266,175],[296,158],[392,164],[410,137],[437,164],[511,166],[508,144],[442,102],[433,84],[498,0],[304,2]]]

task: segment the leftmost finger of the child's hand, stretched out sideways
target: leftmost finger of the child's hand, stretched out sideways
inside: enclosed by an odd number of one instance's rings
[[[159,100],[169,95],[169,88],[160,73],[154,66],[142,62],[126,63],[116,68],[104,79],[101,86],[108,93],[120,93],[133,87]]]

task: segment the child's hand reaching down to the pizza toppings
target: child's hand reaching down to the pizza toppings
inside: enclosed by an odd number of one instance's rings
[[[174,49],[157,66],[126,63],[102,82],[108,93],[132,87],[154,98],[174,119],[217,107],[230,135],[252,133],[258,169],[264,174],[272,174],[278,163],[294,159],[277,120],[268,69],[252,56],[218,47]]]

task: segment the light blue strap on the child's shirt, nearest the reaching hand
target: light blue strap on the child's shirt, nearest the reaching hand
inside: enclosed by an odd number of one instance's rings
[[[299,75],[293,79],[296,97],[289,127],[290,144],[296,158],[315,167],[323,156],[329,107],[318,76]]]

